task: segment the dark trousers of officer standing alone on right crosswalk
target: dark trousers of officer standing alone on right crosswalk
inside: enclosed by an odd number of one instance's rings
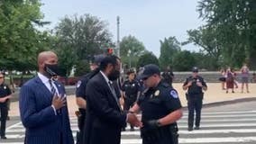
[[[188,95],[187,108],[188,108],[188,128],[193,128],[194,125],[194,113],[196,112],[197,127],[200,126],[201,121],[201,110],[202,110],[203,99],[198,95]]]

